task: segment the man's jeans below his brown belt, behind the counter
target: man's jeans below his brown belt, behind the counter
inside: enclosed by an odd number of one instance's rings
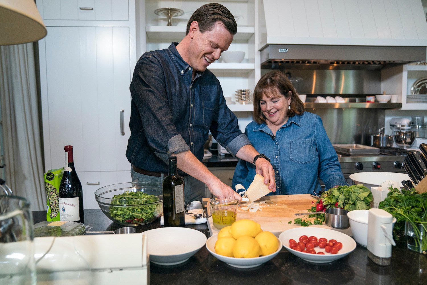
[[[133,182],[154,182],[163,184],[164,174],[160,177],[148,176],[135,172],[131,167],[131,178]],[[205,183],[197,180],[193,176],[187,175],[184,179],[184,202],[189,205],[193,201],[202,203],[202,198],[205,197]]]

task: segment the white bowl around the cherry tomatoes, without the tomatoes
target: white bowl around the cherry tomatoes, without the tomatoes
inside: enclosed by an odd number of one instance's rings
[[[342,243],[342,249],[339,250],[339,252],[336,254],[326,253],[325,249],[320,247],[316,247],[314,250],[316,250],[316,252],[322,251],[325,254],[303,253],[298,250],[292,250],[292,248],[289,247],[289,240],[292,238],[295,241],[298,241],[301,235],[314,235],[316,238],[326,238],[328,241],[330,239],[335,239],[336,241]],[[279,235],[279,240],[282,242],[283,246],[293,255],[298,256],[305,261],[314,263],[328,263],[336,259],[340,259],[351,253],[356,248],[356,242],[348,235],[332,229],[322,229],[316,227],[288,229]]]

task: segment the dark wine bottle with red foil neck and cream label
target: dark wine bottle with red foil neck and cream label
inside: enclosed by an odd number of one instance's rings
[[[73,146],[66,145],[65,166],[59,185],[59,219],[69,222],[84,223],[83,190],[79,176],[74,168]]]

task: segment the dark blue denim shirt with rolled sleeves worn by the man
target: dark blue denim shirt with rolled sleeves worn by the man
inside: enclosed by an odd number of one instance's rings
[[[218,79],[206,70],[192,81],[193,68],[181,58],[177,44],[144,53],[130,85],[126,157],[149,171],[168,173],[168,156],[187,150],[202,161],[209,130],[233,156],[250,144],[226,105]]]

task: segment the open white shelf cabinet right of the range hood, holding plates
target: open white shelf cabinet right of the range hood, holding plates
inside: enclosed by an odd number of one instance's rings
[[[399,65],[383,68],[381,90],[387,94],[398,94],[402,110],[427,110],[427,103],[408,103],[407,96],[418,79],[427,77],[427,65]]]

